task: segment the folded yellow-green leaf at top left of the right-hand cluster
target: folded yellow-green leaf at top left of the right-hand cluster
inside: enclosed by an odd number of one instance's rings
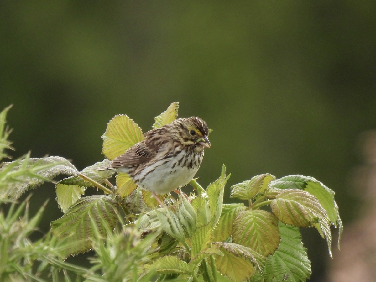
[[[268,188],[269,183],[275,179],[269,173],[256,175],[251,180],[231,186],[230,198],[250,201],[256,194],[263,193]]]

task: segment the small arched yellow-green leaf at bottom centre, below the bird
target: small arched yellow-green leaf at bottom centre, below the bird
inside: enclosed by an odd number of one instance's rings
[[[148,271],[150,270],[156,271],[159,274],[190,273],[189,265],[175,256],[164,256],[156,259],[150,267],[148,267]]]

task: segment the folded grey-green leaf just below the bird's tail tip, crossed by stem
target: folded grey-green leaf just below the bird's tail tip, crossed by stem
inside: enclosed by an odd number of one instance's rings
[[[113,170],[97,170],[99,167],[104,167],[106,165],[109,165],[111,161],[108,159],[103,160],[102,162],[96,162],[95,164],[85,167],[82,171],[80,171],[80,174],[83,176],[90,178],[91,180],[94,180],[95,182],[99,184],[104,184],[105,181],[111,177],[115,171]],[[85,186],[85,187],[96,187],[95,184],[88,182],[84,180],[81,176],[77,177],[67,177],[61,181],[58,182],[59,184],[65,184],[65,185],[77,185],[77,186]]]

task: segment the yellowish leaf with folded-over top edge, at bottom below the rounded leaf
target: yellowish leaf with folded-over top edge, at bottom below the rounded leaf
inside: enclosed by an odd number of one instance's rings
[[[233,243],[214,243],[220,246],[223,256],[215,256],[215,266],[232,281],[249,279],[258,268],[249,248]]]

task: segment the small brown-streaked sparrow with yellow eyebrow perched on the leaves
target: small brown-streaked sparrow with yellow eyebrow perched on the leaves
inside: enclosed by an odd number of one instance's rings
[[[158,195],[190,182],[202,163],[204,149],[210,148],[208,125],[202,118],[177,118],[173,122],[150,130],[145,139],[127,149],[99,170],[127,173],[141,189]]]

